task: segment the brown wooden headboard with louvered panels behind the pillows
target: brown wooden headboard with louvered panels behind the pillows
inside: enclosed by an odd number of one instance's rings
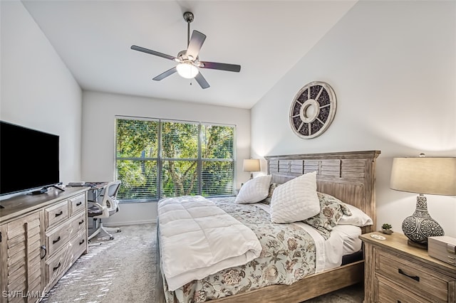
[[[375,159],[380,151],[346,151],[323,154],[265,156],[272,182],[285,183],[311,171],[317,171],[317,190],[335,196],[368,214],[375,230]]]

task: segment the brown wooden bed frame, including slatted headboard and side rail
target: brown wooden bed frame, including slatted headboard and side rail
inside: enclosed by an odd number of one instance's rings
[[[296,176],[317,171],[317,190],[367,213],[373,219],[373,225],[362,228],[362,233],[370,233],[376,226],[375,159],[379,154],[380,151],[346,151],[264,158],[267,160],[268,174],[272,175],[272,182],[276,183],[284,183]],[[157,260],[157,302],[165,302],[158,255]],[[363,277],[364,260],[361,260],[309,275],[292,285],[270,285],[209,302],[302,302],[362,282]]]

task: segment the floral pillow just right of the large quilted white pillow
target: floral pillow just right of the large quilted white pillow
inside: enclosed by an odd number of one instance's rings
[[[326,240],[331,235],[331,230],[341,220],[343,215],[351,216],[351,211],[345,203],[327,193],[317,192],[320,201],[320,213],[304,220],[318,230]]]

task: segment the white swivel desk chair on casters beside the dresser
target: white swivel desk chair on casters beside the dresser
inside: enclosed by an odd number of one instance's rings
[[[120,228],[107,228],[104,227],[103,222],[101,222],[102,218],[109,218],[119,211],[117,193],[119,191],[120,183],[121,181],[112,181],[103,186],[103,188],[100,189],[101,192],[98,198],[98,200],[101,199],[100,202],[88,201],[88,217],[93,218],[93,226],[96,228],[87,239],[89,240],[89,243],[90,239],[102,231],[109,236],[109,240],[114,239],[113,235],[109,233],[110,231],[120,233]]]

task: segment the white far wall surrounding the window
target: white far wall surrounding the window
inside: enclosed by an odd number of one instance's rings
[[[181,119],[236,125],[237,186],[249,179],[242,159],[250,156],[250,110],[156,100],[103,92],[83,92],[82,179],[109,181],[115,176],[115,115]],[[107,225],[155,222],[157,203],[123,203]]]

